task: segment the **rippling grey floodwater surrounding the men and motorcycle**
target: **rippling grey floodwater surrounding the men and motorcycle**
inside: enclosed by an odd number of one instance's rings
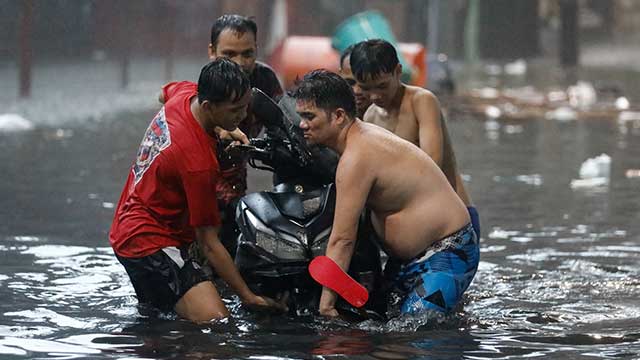
[[[107,240],[153,110],[0,133],[0,358],[638,358],[640,124],[449,122],[482,221],[481,264],[446,319],[347,324],[245,312],[148,319]],[[606,153],[610,182],[572,188]],[[633,174],[631,174],[633,175]],[[252,173],[253,189],[268,174]]]

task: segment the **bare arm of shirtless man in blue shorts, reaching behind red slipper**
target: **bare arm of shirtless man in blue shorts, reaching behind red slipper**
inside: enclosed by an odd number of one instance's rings
[[[336,208],[333,228],[329,236],[326,255],[345,272],[349,268],[358,234],[358,220],[364,209],[373,175],[367,169],[366,160],[354,154],[343,154],[336,172]],[[337,316],[336,293],[322,289],[320,314]]]

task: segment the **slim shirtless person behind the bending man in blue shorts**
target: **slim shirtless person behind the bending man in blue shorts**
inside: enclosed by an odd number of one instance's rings
[[[358,86],[373,103],[363,120],[393,132],[429,154],[467,206],[476,234],[480,236],[478,211],[458,172],[438,99],[429,90],[400,81],[402,65],[393,45],[385,40],[356,44],[349,61]]]

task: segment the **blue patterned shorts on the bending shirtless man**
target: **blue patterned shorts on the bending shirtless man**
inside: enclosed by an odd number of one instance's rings
[[[403,292],[402,313],[449,312],[471,284],[480,261],[471,224],[432,244],[419,258],[401,266],[396,287]]]

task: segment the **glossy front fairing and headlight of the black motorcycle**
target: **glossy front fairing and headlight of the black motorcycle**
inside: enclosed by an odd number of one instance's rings
[[[309,191],[302,185],[278,189],[283,191],[246,195],[238,204],[242,236],[236,263],[242,272],[281,276],[326,250],[335,207],[333,184]]]

